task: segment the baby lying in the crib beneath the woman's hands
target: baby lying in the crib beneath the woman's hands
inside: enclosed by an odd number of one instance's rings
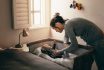
[[[36,55],[43,55],[46,54],[48,56],[50,56],[51,58],[61,58],[62,55],[56,55],[57,49],[53,46],[50,46],[48,44],[44,44],[41,47],[38,47],[34,50],[34,53]]]

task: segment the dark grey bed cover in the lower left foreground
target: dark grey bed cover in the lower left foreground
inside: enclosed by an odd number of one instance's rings
[[[0,70],[69,70],[29,52],[15,49],[0,51]]]

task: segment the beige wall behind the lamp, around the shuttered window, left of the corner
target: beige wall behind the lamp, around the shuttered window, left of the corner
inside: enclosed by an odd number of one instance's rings
[[[21,30],[12,29],[12,0],[0,0],[0,46],[10,47],[18,43]],[[29,30],[29,36],[22,38],[22,43],[29,43],[49,38],[50,28]]]

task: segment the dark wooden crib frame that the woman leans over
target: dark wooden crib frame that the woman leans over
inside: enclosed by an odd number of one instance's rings
[[[54,45],[54,41],[56,41],[56,45],[58,49],[63,48],[63,42],[55,39],[44,39],[35,41],[32,43],[29,43],[29,52],[34,54],[34,50],[37,47],[40,47],[43,44],[49,44],[50,46]],[[74,58],[74,64],[73,68],[65,67],[64,65],[61,65],[65,68],[68,68],[69,70],[91,70],[91,64],[93,62],[92,54],[93,54],[93,47],[92,46],[84,46],[79,45],[79,49],[71,52],[72,54],[78,55]],[[60,64],[59,64],[60,65]]]

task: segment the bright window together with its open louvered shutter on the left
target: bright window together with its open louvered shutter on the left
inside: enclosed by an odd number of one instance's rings
[[[49,26],[50,0],[13,0],[15,29]]]

